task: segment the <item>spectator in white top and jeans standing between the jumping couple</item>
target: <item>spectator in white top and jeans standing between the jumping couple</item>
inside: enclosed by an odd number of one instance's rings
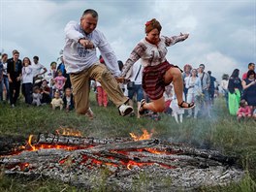
[[[144,99],[143,89],[143,66],[140,62],[133,65],[130,81],[127,82],[128,97],[130,99],[130,105],[133,106],[134,101],[137,102],[138,112],[137,117],[140,118],[140,104]],[[134,98],[136,96],[136,99]],[[134,113],[131,113],[133,115]]]

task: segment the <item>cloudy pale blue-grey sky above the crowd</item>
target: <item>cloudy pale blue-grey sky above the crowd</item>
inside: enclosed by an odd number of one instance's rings
[[[183,68],[190,64],[221,80],[224,73],[247,71],[256,62],[256,0],[0,0],[0,50],[20,59],[38,55],[49,69],[59,63],[64,47],[64,28],[80,21],[86,9],[99,14],[97,28],[123,62],[142,40],[144,23],[156,18],[161,35],[189,33],[189,38],[168,48],[170,63]],[[99,54],[99,52],[98,52]]]

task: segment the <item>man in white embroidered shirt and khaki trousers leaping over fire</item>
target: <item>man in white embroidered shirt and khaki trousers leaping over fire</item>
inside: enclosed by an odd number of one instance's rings
[[[94,79],[102,84],[120,114],[127,115],[133,112],[133,108],[126,105],[129,99],[123,95],[116,81],[120,80],[116,56],[104,34],[96,29],[97,23],[98,13],[89,9],[83,12],[80,23],[70,21],[65,27],[63,56],[67,73],[70,74],[76,111],[93,117],[88,96],[89,80]],[[107,67],[99,62],[96,48],[99,48]]]

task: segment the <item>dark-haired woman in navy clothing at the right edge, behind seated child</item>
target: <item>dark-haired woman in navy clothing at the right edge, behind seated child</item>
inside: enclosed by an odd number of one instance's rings
[[[251,109],[256,107],[256,75],[253,70],[249,70],[247,78],[241,81],[243,88],[242,99],[244,99]]]

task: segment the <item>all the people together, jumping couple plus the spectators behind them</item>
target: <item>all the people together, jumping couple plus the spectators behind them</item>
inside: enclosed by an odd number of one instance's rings
[[[211,71],[205,72],[205,64],[197,68],[186,64],[181,70],[167,61],[167,48],[185,41],[189,34],[161,36],[162,26],[155,18],[145,23],[145,37],[122,63],[116,59],[104,34],[96,29],[97,23],[98,13],[90,9],[83,12],[80,22],[70,21],[64,29],[66,41],[60,63],[51,62],[49,71],[38,56],[31,62],[28,57],[21,61],[16,49],[11,58],[3,53],[0,100],[5,98],[15,108],[21,90],[28,106],[49,104],[52,110],[75,109],[93,118],[89,92],[94,84],[99,106],[107,108],[110,99],[120,115],[151,116],[159,120],[158,112],[166,112],[181,123],[185,113],[186,117],[211,117],[214,98],[221,87],[231,114],[239,120],[256,118],[254,63],[249,63],[241,80],[240,70],[235,69],[231,77],[224,74],[220,83],[211,76]]]

